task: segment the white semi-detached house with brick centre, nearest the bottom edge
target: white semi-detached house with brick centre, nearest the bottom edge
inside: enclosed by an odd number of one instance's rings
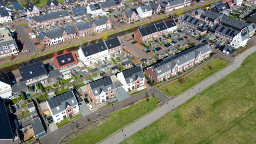
[[[71,118],[79,113],[78,96],[79,94],[72,88],[46,101],[55,123],[60,123],[63,119]]]

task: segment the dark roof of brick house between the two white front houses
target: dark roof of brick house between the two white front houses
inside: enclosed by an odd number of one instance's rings
[[[103,79],[96,80],[89,83],[91,91],[94,94],[94,97],[100,95],[101,92],[109,92],[115,89],[114,83],[110,76],[104,77]]]

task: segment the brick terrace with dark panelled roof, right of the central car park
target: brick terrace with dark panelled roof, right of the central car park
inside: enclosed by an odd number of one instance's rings
[[[188,14],[179,16],[178,25],[188,28],[200,35],[206,34],[208,28],[210,28],[210,25],[208,25],[207,22],[196,19],[195,17],[189,16]]]

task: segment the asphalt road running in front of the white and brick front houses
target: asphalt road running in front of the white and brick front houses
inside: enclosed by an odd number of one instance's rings
[[[169,98],[166,97],[166,95],[162,94],[162,92],[159,91],[158,88],[152,87],[152,88],[147,89],[146,91],[143,91],[136,95],[132,95],[132,97],[129,97],[127,99],[124,99],[124,100],[118,101],[117,103],[114,103],[113,104],[114,110],[116,111],[119,109],[123,109],[124,106],[129,105],[131,103],[135,103],[136,101],[145,98],[147,95],[149,97],[150,96],[158,97],[159,100],[162,101],[161,105],[167,103],[167,101],[170,100]],[[99,117],[106,116],[109,113],[112,113],[113,107],[110,105],[110,106],[104,107],[103,109],[100,109],[98,111],[92,112],[89,115],[78,118],[77,120],[74,121],[74,124],[75,125],[78,124],[81,127],[84,124],[88,124],[88,118],[90,119],[90,122],[95,121]],[[99,116],[97,115],[97,113],[99,113]],[[62,137],[68,135],[72,131],[73,131],[73,124],[69,123],[51,133],[48,133],[47,135],[43,136],[42,139],[40,140],[40,142],[43,144],[59,143],[60,140],[62,139]]]

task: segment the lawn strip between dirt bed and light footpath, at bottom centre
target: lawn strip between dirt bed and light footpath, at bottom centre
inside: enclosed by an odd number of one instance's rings
[[[126,109],[111,113],[109,114],[109,117],[111,118],[110,121],[86,131],[78,137],[75,137],[75,139],[71,140],[69,143],[96,143],[145,113],[155,109],[155,107],[157,107],[156,103],[158,102],[159,100],[156,98],[149,98],[149,101],[142,100],[137,104],[127,107]]]

